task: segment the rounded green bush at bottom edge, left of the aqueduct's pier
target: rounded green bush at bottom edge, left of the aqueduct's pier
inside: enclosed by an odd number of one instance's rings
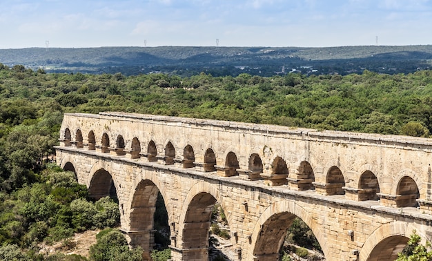
[[[142,249],[129,249],[124,235],[118,230],[112,230],[97,238],[97,243],[90,247],[90,260],[142,260]]]

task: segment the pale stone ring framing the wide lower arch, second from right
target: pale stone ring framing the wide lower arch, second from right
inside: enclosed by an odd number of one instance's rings
[[[327,257],[328,255],[328,247],[326,244],[326,238],[324,233],[322,233],[322,230],[320,229],[319,225],[317,224],[317,222],[312,218],[312,216],[305,210],[302,208],[302,206],[300,204],[297,204],[297,202],[295,201],[291,201],[291,200],[284,200],[284,201],[279,201],[279,202],[275,202],[273,204],[271,204],[270,206],[268,206],[266,208],[266,210],[262,213],[262,215],[259,217],[259,219],[257,220],[257,222],[255,223],[255,226],[253,228],[253,232],[251,235],[251,245],[248,248],[248,253],[246,253],[246,260],[254,260],[255,258],[255,249],[259,248],[259,244],[262,244],[264,242],[257,242],[260,238],[264,239],[266,238],[265,235],[263,236],[262,234],[262,229],[264,227],[264,224],[266,224],[266,222],[268,222],[268,220],[271,220],[272,217],[278,217],[278,216],[286,216],[286,215],[295,215],[298,218],[300,218],[301,220],[303,220],[303,222],[305,222],[309,228],[311,229],[311,231],[313,232],[313,235],[315,235],[315,238],[317,238],[318,243],[320,243],[320,247],[324,253],[324,255]],[[286,226],[286,229],[288,229],[289,226]],[[278,240],[282,240],[278,239]],[[258,244],[257,244],[258,243]],[[270,247],[280,247],[280,243],[281,242],[274,242],[273,244],[271,244]],[[279,255],[279,250],[277,249],[276,253],[277,255]],[[269,260],[273,260],[273,259],[269,259]]]

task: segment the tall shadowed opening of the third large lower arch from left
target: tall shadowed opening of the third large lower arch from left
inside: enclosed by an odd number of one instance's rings
[[[164,197],[150,180],[141,180],[135,188],[130,207],[130,230],[148,233],[148,242],[131,237],[130,244],[141,245],[143,249],[167,249],[170,244],[170,226]]]

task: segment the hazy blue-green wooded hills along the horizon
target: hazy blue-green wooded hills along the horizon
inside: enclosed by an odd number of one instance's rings
[[[371,70],[388,74],[428,69],[432,45],[301,47],[101,47],[0,49],[0,63],[47,72],[138,75],[168,72],[190,76],[271,76],[284,72],[346,75]],[[284,70],[282,69],[284,68]]]

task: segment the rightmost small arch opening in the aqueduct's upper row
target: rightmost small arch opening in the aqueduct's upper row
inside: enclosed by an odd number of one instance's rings
[[[409,176],[402,177],[397,183],[396,206],[418,206],[418,198],[420,198],[420,192],[413,178]]]

